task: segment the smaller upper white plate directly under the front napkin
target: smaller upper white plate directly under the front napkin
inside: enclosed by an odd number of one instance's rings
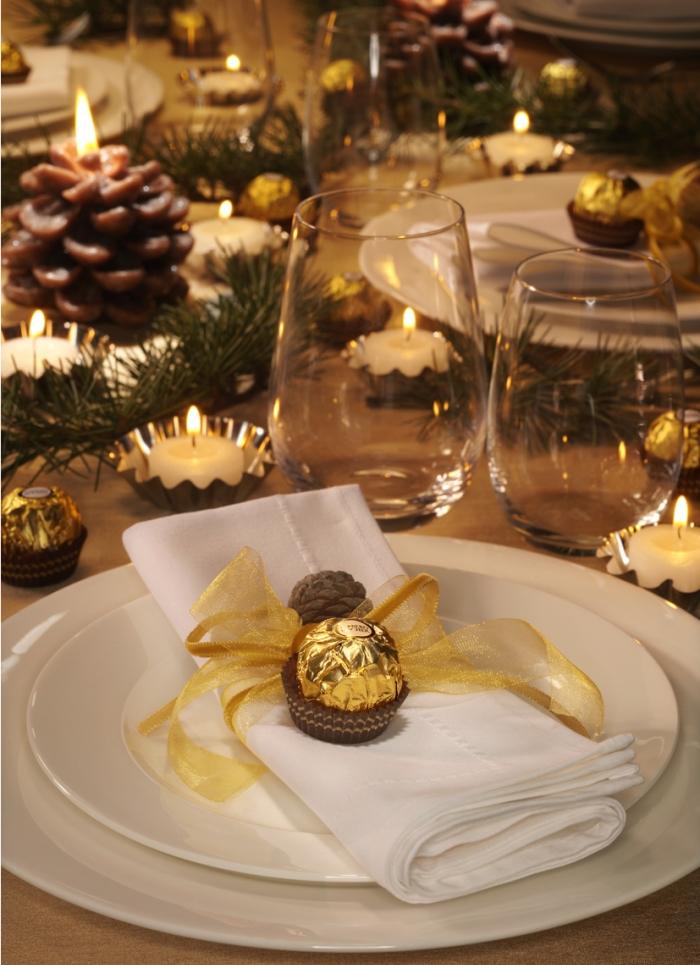
[[[433,572],[450,629],[493,617],[527,620],[595,680],[606,708],[604,736],[636,738],[644,784],[620,800],[630,807],[647,793],[671,758],[678,714],[671,685],[646,650],[607,620],[549,593],[478,573]],[[177,694],[194,667],[150,596],[110,610],[78,633],[48,662],[29,698],[29,741],[49,779],[91,817],[168,854],[273,878],[370,880],[272,774],[216,805],[169,768],[166,728],[148,738],[137,733],[139,722]],[[207,746],[230,754],[232,735],[213,695],[202,717]]]

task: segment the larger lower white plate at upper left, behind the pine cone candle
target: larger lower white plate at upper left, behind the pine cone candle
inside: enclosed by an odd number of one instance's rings
[[[128,107],[126,98],[127,68],[125,63],[112,60],[110,57],[100,57],[97,54],[74,53],[71,64],[89,74],[97,72],[102,78],[106,94],[95,111],[95,126],[98,138],[109,140],[117,137],[128,127]],[[131,85],[132,103],[135,116],[132,123],[137,124],[144,117],[156,111],[163,101],[163,82],[153,71],[141,64],[134,63],[130,68],[129,83]],[[3,134],[5,134],[3,127]],[[62,143],[73,135],[73,112],[66,119],[65,125],[52,127],[51,130],[40,128],[23,129],[5,137],[8,150],[16,152],[18,149],[28,154],[45,154],[47,141]]]

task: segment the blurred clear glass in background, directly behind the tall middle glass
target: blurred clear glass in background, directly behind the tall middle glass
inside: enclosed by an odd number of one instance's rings
[[[433,188],[443,125],[440,71],[422,18],[353,8],[318,21],[303,142],[315,191]]]

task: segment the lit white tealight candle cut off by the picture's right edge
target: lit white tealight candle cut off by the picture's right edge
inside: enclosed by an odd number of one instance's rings
[[[700,530],[687,523],[688,501],[680,496],[672,525],[646,526],[629,538],[628,569],[635,571],[640,586],[671,580],[681,593],[700,590]]]

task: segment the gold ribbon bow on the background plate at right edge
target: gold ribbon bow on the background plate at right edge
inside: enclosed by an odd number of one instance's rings
[[[664,253],[667,246],[680,245],[690,256],[690,270],[679,272],[671,269],[671,275],[679,288],[700,292],[700,285],[691,279],[698,274],[698,253],[689,236],[688,227],[681,217],[680,199],[684,191],[697,184],[700,162],[693,161],[679,168],[666,178],[659,178],[639,191],[632,191],[620,202],[620,213],[627,218],[641,218],[647,235],[649,251],[668,263]],[[695,188],[697,192],[697,188]]]

